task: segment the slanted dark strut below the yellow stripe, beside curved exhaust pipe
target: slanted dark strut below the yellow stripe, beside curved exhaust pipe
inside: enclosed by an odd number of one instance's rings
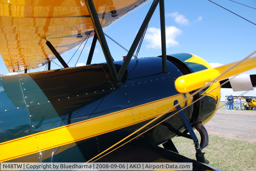
[[[174,105],[177,105],[179,102],[178,100],[175,100],[174,101]],[[202,163],[206,163],[205,161],[205,156],[204,156],[204,153],[202,153],[202,150],[201,150],[201,147],[199,145],[199,141],[197,139],[197,136],[193,130],[193,128],[191,127],[185,113],[183,112],[183,110],[181,109],[180,105],[178,105],[176,107],[176,109],[179,111],[179,114],[182,118],[182,121],[184,123],[184,125],[186,126],[189,134],[191,135],[193,141],[194,141],[194,144],[195,144],[195,148],[196,148],[196,160],[199,161],[199,162],[202,162]]]

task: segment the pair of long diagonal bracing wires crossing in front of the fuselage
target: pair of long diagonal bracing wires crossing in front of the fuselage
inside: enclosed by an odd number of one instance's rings
[[[246,59],[250,58],[254,53],[256,53],[256,51],[254,51],[253,53],[251,53],[250,55],[248,55],[246,58],[244,58],[244,59],[242,60],[242,62],[246,61]],[[233,68],[236,67],[237,65],[240,65],[242,62],[239,61],[239,62],[235,63],[235,64],[234,64],[233,66],[231,66],[228,70],[226,70],[225,72],[223,72],[222,74],[220,74],[220,75],[214,80],[214,82],[216,82],[216,81],[218,80],[218,78],[220,78],[221,76],[223,76],[225,73],[227,73],[228,71],[230,71],[231,69],[233,69]],[[234,78],[234,77],[233,77],[233,78]],[[228,82],[228,80],[227,80],[226,82]],[[221,85],[225,84],[226,82],[222,83]],[[209,86],[210,84],[213,84],[213,82],[207,83],[207,84],[205,85],[205,87]],[[221,85],[220,85],[220,86],[221,86]],[[99,153],[98,155],[94,156],[93,158],[91,158],[90,160],[88,160],[86,163],[88,163],[88,162],[92,161],[93,159],[99,157],[99,156],[102,155],[103,153],[105,153],[105,152],[109,151],[110,149],[112,149],[113,147],[115,147],[117,144],[120,144],[120,143],[123,142],[124,140],[130,138],[130,137],[131,137],[132,135],[134,135],[135,133],[141,131],[141,130],[142,130],[143,128],[145,128],[146,126],[150,125],[151,123],[153,123],[153,122],[156,121],[157,119],[159,119],[159,118],[161,118],[162,116],[164,116],[164,115],[165,115],[166,113],[168,113],[170,110],[174,109],[175,107],[177,107],[177,106],[180,105],[181,103],[185,102],[188,98],[193,97],[195,94],[197,94],[197,93],[199,93],[200,91],[202,91],[205,87],[202,87],[202,88],[196,90],[196,91],[195,91],[194,93],[192,93],[190,96],[186,97],[185,99],[183,99],[182,101],[180,101],[178,104],[174,105],[172,108],[168,109],[167,111],[165,111],[164,113],[160,114],[159,116],[157,116],[157,117],[154,118],[153,120],[149,121],[149,122],[146,123],[144,126],[142,126],[141,128],[137,129],[136,131],[134,131],[134,132],[131,133],[130,135],[126,136],[125,138],[123,138],[123,139],[120,140],[119,142],[115,143],[114,145],[112,145],[112,146],[109,147],[108,149],[106,149],[106,150],[104,150],[103,152]],[[218,87],[219,87],[219,86],[218,86]],[[216,87],[216,88],[218,88],[218,87]],[[215,88],[215,89],[216,89],[216,88]],[[215,89],[214,89],[214,90],[215,90]],[[212,91],[213,91],[213,90],[212,90]],[[210,91],[210,92],[212,92],[212,91]],[[210,92],[209,92],[209,93],[210,93]],[[209,93],[207,93],[207,94],[209,94]],[[198,100],[200,100],[201,98],[205,97],[207,94],[205,94],[204,96],[200,97],[200,98],[197,99],[196,101],[198,101]],[[196,102],[196,101],[194,101],[194,102]],[[194,103],[194,102],[193,102],[193,103]],[[193,103],[191,103],[190,105],[192,105]],[[188,105],[188,106],[190,106],[190,105]],[[182,108],[182,110],[184,110],[184,109],[187,108],[188,106]],[[174,113],[174,114],[171,115],[170,117],[176,115],[177,113],[178,113],[178,112]],[[166,118],[166,119],[169,119],[170,117],[168,117],[168,118]],[[166,120],[166,119],[165,119],[165,120]],[[152,129],[152,127],[151,127],[150,129]],[[144,133],[144,132],[143,132],[143,133]],[[142,134],[143,134],[143,133],[142,133]],[[140,135],[141,135],[141,134],[140,134]],[[129,141],[131,141],[131,140],[129,140]],[[126,143],[127,143],[127,142],[126,142]],[[121,145],[121,146],[122,146],[122,145]],[[121,147],[121,146],[119,146],[119,147]],[[117,147],[117,148],[119,148],[119,147]],[[116,149],[117,149],[117,148],[116,148]],[[114,150],[115,150],[115,149],[114,149]],[[113,151],[113,150],[112,150],[112,151]],[[111,151],[111,152],[112,152],[112,151]],[[110,153],[110,152],[109,152],[109,153]],[[109,154],[109,153],[107,153],[107,154]],[[102,156],[101,156],[101,157],[102,157]]]

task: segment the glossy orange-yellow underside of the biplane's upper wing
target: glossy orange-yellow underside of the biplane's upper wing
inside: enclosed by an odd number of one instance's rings
[[[102,27],[146,0],[93,0]],[[94,30],[84,0],[0,0],[0,54],[9,72],[46,64],[55,56],[46,37],[62,54]]]

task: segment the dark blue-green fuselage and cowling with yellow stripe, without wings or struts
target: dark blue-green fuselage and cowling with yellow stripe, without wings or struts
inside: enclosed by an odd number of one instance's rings
[[[166,117],[172,115],[174,100],[182,101],[191,94],[178,93],[175,79],[206,68],[207,63],[184,62],[192,57],[187,53],[168,55],[164,74],[159,57],[133,59],[118,85],[113,84],[106,63],[2,76],[0,162],[85,162],[166,110],[171,109]],[[122,63],[114,62],[117,70]],[[215,86],[181,104],[182,108],[190,105],[184,110],[190,123],[204,123],[213,116],[220,94],[209,93],[191,103]],[[175,115],[139,139],[158,145],[184,130]]]

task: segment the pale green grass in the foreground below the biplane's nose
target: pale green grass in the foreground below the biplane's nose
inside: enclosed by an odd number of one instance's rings
[[[200,139],[199,133],[196,131]],[[195,157],[193,141],[184,137],[172,139],[180,154],[192,159]],[[199,140],[200,142],[200,140]],[[225,138],[224,136],[209,134],[209,145],[202,151],[205,152],[207,164],[221,170],[256,170],[256,142]]]

